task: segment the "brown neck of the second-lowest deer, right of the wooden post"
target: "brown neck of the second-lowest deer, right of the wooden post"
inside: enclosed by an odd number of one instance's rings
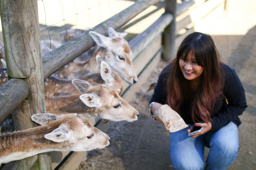
[[[81,113],[88,117],[97,117],[100,110],[86,106],[80,99],[81,94],[63,97],[46,97],[46,112],[56,115]]]

